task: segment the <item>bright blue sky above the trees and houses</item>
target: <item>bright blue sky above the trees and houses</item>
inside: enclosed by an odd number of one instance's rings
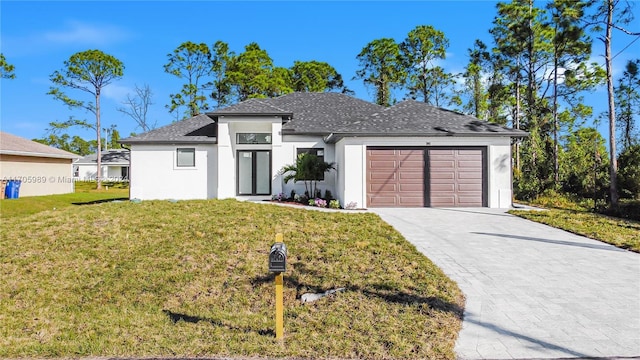
[[[640,9],[635,8],[635,13]],[[49,76],[72,54],[100,49],[125,64],[124,77],[103,91],[102,125],[112,124],[122,136],[138,131],[135,123],[115,109],[135,84],[149,84],[154,97],[150,118],[158,125],[172,121],[165,109],[169,94],[179,91],[180,79],[166,74],[167,54],[185,41],[209,45],[225,41],[236,53],[257,42],[276,66],[295,60],[325,61],[334,66],[355,96],[373,100],[373,92],[360,80],[351,80],[358,68],[356,55],[370,41],[391,37],[402,41],[417,25],[432,25],[450,40],[446,70],[460,72],[467,49],[479,38],[491,44],[488,33],[496,15],[495,1],[413,2],[177,2],[177,1],[2,1],[0,49],[15,65],[17,78],[1,80],[1,129],[26,138],[46,135],[51,121],[70,115],[93,121],[92,114],[69,110],[46,95]],[[632,24],[640,28],[638,19]],[[615,34],[614,54],[633,40]],[[600,41],[594,42],[593,60],[602,63]],[[626,60],[640,58],[640,41],[616,59],[616,73]],[[90,96],[69,90],[71,97]],[[606,109],[602,87],[589,97],[597,111]],[[604,127],[601,126],[603,135]],[[70,130],[85,139],[90,131]]]

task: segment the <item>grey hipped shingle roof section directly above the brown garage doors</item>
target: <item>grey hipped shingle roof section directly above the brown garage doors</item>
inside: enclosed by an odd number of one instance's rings
[[[386,136],[527,135],[521,130],[510,129],[415,100],[402,101],[362,118],[352,118],[336,127],[333,133]]]

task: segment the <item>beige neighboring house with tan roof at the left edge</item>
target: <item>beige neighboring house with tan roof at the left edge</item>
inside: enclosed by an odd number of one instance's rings
[[[73,192],[78,155],[0,131],[0,179],[20,180],[20,197]]]

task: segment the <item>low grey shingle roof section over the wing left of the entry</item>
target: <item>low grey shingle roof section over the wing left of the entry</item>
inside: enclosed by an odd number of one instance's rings
[[[120,140],[122,144],[136,143],[215,143],[216,126],[209,116],[200,114],[149,132]]]

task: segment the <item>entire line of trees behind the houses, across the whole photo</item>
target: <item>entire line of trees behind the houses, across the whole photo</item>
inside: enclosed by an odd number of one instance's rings
[[[373,100],[383,106],[394,104],[399,95],[527,131],[529,137],[513,149],[517,198],[564,191],[616,206],[620,195],[638,197],[640,60],[630,60],[616,82],[616,55],[611,54],[613,30],[616,36],[640,37],[627,28],[632,6],[625,0],[554,0],[542,5],[533,0],[498,3],[489,29],[491,43],[474,41],[462,73],[447,72],[443,66],[449,46],[445,34],[419,25],[400,42],[381,38],[366,44],[356,55],[359,68],[353,79],[372,88]],[[592,36],[604,45],[604,68],[592,61],[598,55],[592,53]],[[3,77],[14,77],[4,56],[0,60]],[[99,50],[74,54],[52,74],[49,94],[94,113],[96,121],[70,118],[52,127],[96,130],[99,151],[100,90],[122,77],[123,70],[119,60]],[[175,120],[249,98],[300,91],[353,94],[330,64],[294,61],[280,67],[257,43],[235,53],[223,41],[210,47],[187,41],[167,55],[164,71],[184,81],[166,104]],[[594,114],[584,96],[603,84],[608,111]],[[93,101],[71,99],[62,89],[82,90]],[[119,110],[148,131],[155,127],[146,119],[149,105],[149,87],[136,86],[136,94],[127,96]],[[595,129],[598,121],[609,124],[608,151]]]

